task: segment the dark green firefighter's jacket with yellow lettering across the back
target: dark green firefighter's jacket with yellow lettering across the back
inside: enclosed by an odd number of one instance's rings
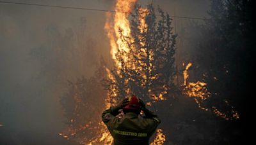
[[[102,113],[102,121],[108,127],[109,132],[114,138],[114,144],[140,144],[148,145],[148,140],[154,134],[159,118],[150,113],[145,113],[144,118],[139,118],[138,114],[129,112],[123,118],[116,115],[118,109],[111,107]]]

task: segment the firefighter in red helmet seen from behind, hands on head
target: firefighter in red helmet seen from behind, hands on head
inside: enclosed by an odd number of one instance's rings
[[[117,115],[122,109],[124,116]],[[139,117],[143,111],[145,116]],[[124,99],[115,107],[110,107],[102,113],[102,121],[108,127],[114,138],[114,144],[140,144],[148,145],[148,141],[154,134],[157,125],[161,122],[156,114],[149,111],[145,103],[135,95]]]

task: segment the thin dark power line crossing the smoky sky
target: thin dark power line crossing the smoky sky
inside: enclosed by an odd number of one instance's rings
[[[49,8],[66,8],[66,9],[73,9],[73,10],[104,11],[104,12],[111,12],[111,13],[128,13],[127,11],[100,10],[100,9],[93,9],[93,8],[81,8],[81,7],[73,7],[73,6],[57,6],[57,5],[47,5],[47,4],[18,3],[18,2],[10,2],[10,1],[0,1],[0,3],[20,4],[20,5],[29,5],[29,6],[44,6],[44,7],[49,7]],[[184,16],[175,16],[175,15],[170,15],[170,17],[194,19],[194,20],[213,20],[213,19],[209,19],[209,18],[184,17]]]

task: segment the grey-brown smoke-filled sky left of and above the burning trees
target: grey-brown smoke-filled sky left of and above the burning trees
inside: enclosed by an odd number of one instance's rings
[[[113,10],[115,3],[17,2],[100,10]],[[209,9],[205,0],[139,1],[150,2],[185,17],[207,17]],[[59,143],[58,132],[65,127],[59,100],[67,80],[92,76],[101,56],[111,60],[105,20],[102,11],[0,3],[0,142]]]

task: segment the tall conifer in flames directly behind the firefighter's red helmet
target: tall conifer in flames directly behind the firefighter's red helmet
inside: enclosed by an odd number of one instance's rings
[[[106,80],[107,90],[120,98],[136,94],[151,102],[164,100],[174,90],[174,54],[176,34],[172,18],[152,4],[135,5],[131,13],[131,34],[118,27],[116,66]]]

